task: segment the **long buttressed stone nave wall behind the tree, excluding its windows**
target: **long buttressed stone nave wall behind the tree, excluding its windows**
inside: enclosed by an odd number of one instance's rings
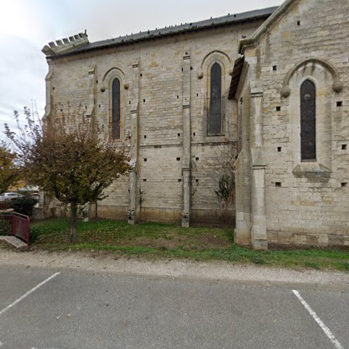
[[[260,24],[230,24],[49,60],[46,117],[80,110],[104,126],[105,138],[111,82],[121,81],[118,144],[130,145],[135,177],[108,189],[109,198],[98,203],[99,216],[126,219],[135,211],[136,221],[180,223],[189,205],[194,223],[234,222],[234,210],[224,210],[214,191],[225,154],[237,142],[237,105],[228,101],[228,89],[238,40]],[[223,67],[224,134],[209,137],[207,82],[215,61]]]

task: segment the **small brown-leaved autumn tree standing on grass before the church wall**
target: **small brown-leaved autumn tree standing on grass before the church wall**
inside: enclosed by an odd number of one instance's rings
[[[70,205],[70,242],[75,243],[79,207],[106,198],[105,188],[131,170],[130,158],[83,114],[57,115],[45,127],[37,113],[33,117],[25,107],[24,114],[27,125],[20,127],[15,112],[20,132],[6,125],[5,133],[15,144],[24,178]]]

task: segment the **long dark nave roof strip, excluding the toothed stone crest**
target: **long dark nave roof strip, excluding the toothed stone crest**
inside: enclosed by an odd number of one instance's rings
[[[68,50],[68,52],[64,52],[62,54],[52,54],[50,58],[64,57],[67,55],[77,54],[80,52],[87,52],[90,50],[98,50],[101,48],[107,48],[112,46],[137,43],[142,40],[152,40],[164,36],[172,36],[187,32],[198,31],[202,29],[209,29],[213,27],[223,27],[229,24],[235,24],[239,22],[249,22],[257,19],[263,19],[269,17],[269,15],[272,15],[274,10],[276,10],[277,8],[278,7],[276,6],[263,8],[261,10],[248,11],[244,13],[228,14],[222,17],[210,18],[209,20],[202,20],[200,22],[174,25],[162,29],[143,31],[138,34],[119,36],[119,38],[96,41],[95,43],[87,43],[79,47],[73,47],[71,50]]]

